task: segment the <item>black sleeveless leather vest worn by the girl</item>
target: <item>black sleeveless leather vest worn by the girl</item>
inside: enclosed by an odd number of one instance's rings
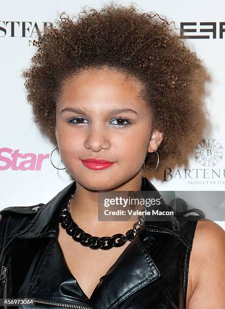
[[[190,253],[201,217],[145,221],[88,298],[58,242],[60,212],[75,189],[73,181],[47,204],[0,212],[0,298],[32,298],[38,308],[185,309]],[[158,192],[147,178],[142,190]]]

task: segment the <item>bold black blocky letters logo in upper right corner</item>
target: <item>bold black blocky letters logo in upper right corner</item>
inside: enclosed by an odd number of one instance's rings
[[[181,38],[223,38],[225,32],[225,22],[181,22]],[[192,32],[192,34],[185,35],[186,32]],[[196,34],[193,34],[195,32]],[[207,33],[202,34],[202,33]]]

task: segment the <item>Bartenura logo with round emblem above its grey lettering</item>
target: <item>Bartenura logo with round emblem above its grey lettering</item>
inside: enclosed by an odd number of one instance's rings
[[[202,168],[177,169],[166,168],[163,181],[186,179],[187,184],[225,184],[225,169],[215,169],[223,158],[223,147],[215,138],[204,138],[195,146],[195,160]],[[206,167],[206,168],[204,168]]]

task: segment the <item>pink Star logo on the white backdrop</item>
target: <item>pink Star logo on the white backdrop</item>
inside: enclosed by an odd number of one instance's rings
[[[0,171],[40,171],[43,161],[49,157],[49,153],[20,153],[19,149],[0,148]]]

